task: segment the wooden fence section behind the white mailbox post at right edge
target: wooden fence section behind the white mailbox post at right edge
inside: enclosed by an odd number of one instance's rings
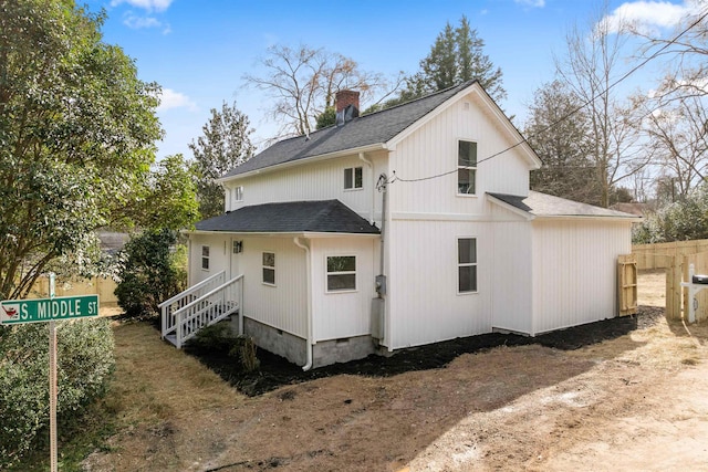
[[[688,282],[688,268],[694,264],[696,274],[708,274],[708,252],[670,258],[666,268],[666,318],[688,321],[689,303],[696,306],[696,322],[708,319],[708,289],[696,294],[696,301],[689,300],[688,289],[681,282]]]

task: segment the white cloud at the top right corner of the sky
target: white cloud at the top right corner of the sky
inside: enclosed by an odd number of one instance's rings
[[[622,3],[602,21],[606,22],[608,32],[620,32],[631,25],[639,31],[676,27],[681,18],[698,11],[698,2],[685,0],[677,4],[669,1],[629,1]]]

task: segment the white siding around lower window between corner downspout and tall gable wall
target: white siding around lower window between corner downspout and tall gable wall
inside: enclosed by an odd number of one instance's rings
[[[378,239],[313,239],[312,300],[315,342],[371,334],[371,304],[376,296],[374,268],[378,268]],[[356,256],[356,290],[326,292],[327,255]]]

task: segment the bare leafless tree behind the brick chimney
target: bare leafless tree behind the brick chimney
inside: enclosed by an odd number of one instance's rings
[[[334,105],[340,90],[358,91],[365,102],[387,86],[381,74],[362,71],[354,60],[308,45],[273,45],[260,63],[266,75],[243,78],[275,101],[270,114],[281,123],[281,136],[312,133],[317,116]]]

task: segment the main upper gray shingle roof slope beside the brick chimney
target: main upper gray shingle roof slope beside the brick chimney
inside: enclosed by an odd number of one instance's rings
[[[308,157],[383,144],[445,103],[476,81],[434,93],[393,108],[354,118],[343,126],[330,126],[310,135],[283,139],[231,169],[221,178],[264,169]]]

